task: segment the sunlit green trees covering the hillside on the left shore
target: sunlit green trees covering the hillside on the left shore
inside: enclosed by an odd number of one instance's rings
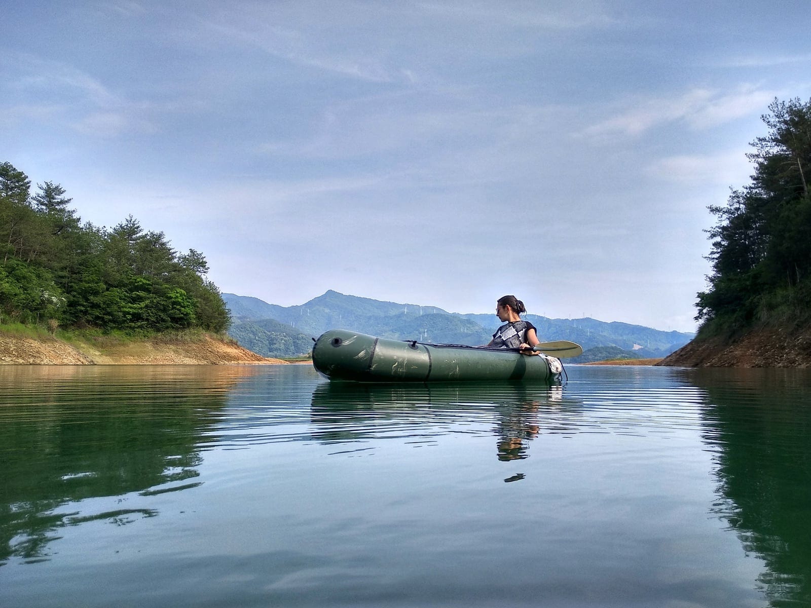
[[[199,251],[180,254],[132,216],[82,223],[62,186],[0,164],[0,323],[161,332],[230,323]]]

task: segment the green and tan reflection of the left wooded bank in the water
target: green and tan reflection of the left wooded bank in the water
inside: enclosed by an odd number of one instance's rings
[[[80,501],[199,485],[201,435],[247,366],[33,366],[0,376],[0,565],[48,559],[65,526],[127,525],[149,508]],[[157,486],[166,486],[153,489]]]

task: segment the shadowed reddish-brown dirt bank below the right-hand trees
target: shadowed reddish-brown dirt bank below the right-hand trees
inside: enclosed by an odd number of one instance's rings
[[[693,340],[660,366],[811,367],[811,327],[757,328],[734,338]]]

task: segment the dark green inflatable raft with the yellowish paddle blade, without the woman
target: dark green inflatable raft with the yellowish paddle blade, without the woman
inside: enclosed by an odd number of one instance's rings
[[[560,348],[561,356],[582,352],[573,343]],[[555,347],[550,347],[555,349]],[[416,340],[385,340],[358,332],[335,329],[315,341],[315,369],[331,380],[361,382],[436,382],[459,380],[560,379],[560,360],[524,355],[517,349],[490,349],[464,345],[423,344]]]

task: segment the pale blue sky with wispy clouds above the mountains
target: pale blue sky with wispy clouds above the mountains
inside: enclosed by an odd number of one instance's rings
[[[692,332],[805,2],[2,0],[0,161],[226,293]]]

